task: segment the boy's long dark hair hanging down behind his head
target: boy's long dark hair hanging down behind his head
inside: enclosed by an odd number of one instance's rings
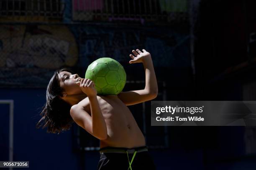
[[[60,87],[58,74],[62,71],[73,72],[67,68],[54,72],[46,90],[46,104],[40,115],[42,118],[36,124],[37,128],[47,127],[47,133],[61,133],[69,130],[74,122],[70,116],[71,105],[61,99],[64,89]]]

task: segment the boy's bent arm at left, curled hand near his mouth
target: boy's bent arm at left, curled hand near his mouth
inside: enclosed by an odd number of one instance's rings
[[[77,105],[73,105],[70,110],[70,115],[74,122],[84,128],[88,133],[100,140],[105,140],[108,138],[107,126],[100,110],[94,83],[89,79],[82,79],[79,84],[82,91],[85,92],[89,98],[91,116],[85,111],[85,100],[82,100]]]

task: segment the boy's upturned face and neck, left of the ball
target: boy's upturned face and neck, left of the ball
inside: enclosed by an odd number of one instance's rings
[[[67,95],[76,95],[82,93],[79,85],[76,84],[76,82],[81,79],[79,75],[72,75],[70,72],[62,71],[58,76],[60,87],[64,89],[64,92],[67,93]]]

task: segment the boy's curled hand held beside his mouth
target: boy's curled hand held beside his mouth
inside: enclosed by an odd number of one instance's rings
[[[80,86],[81,90],[88,96],[93,97],[97,95],[97,90],[94,88],[95,84],[92,80],[87,78],[81,78],[80,81],[76,82]]]

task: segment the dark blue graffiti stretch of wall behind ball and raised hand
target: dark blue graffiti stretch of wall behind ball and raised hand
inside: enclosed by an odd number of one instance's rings
[[[155,67],[189,67],[189,34],[168,28],[71,27],[78,46],[80,66],[99,57],[112,57],[121,64],[135,48],[151,52]]]

